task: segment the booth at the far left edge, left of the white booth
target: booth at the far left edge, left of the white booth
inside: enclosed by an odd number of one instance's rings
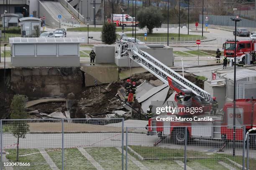
[[[18,27],[19,15],[13,13],[2,14],[3,27]],[[5,22],[4,22],[5,21]]]

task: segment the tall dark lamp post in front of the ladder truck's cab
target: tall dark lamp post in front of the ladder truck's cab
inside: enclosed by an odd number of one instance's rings
[[[235,139],[236,139],[236,23],[241,21],[241,19],[236,16],[236,18],[230,18],[235,21],[235,53],[234,53],[234,94],[233,94],[233,156],[235,153]]]

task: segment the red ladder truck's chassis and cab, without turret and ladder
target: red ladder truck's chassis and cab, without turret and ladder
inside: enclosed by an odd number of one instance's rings
[[[236,100],[236,140],[243,140],[243,125],[246,125],[247,134],[256,133],[256,99]],[[165,128],[167,126],[171,128]],[[174,143],[182,144],[184,126],[187,126],[190,140],[233,140],[233,102],[224,105],[221,120],[208,115],[181,117],[167,114],[152,117],[148,120],[148,135],[158,135],[161,139],[170,136]],[[256,138],[250,141],[255,143]]]

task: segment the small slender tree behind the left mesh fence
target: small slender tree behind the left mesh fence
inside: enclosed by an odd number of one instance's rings
[[[26,119],[28,112],[25,111],[27,98],[22,95],[14,95],[10,105],[11,119]],[[19,139],[26,138],[26,133],[29,131],[29,125],[26,120],[17,120],[12,122],[11,130],[13,136],[17,138],[17,161],[19,160]]]

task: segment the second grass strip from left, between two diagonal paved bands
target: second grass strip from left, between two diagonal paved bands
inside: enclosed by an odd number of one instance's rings
[[[47,149],[53,150],[53,149]],[[62,159],[61,150],[47,152],[56,166],[61,170]],[[64,149],[64,169],[65,170],[96,170],[77,148]]]

